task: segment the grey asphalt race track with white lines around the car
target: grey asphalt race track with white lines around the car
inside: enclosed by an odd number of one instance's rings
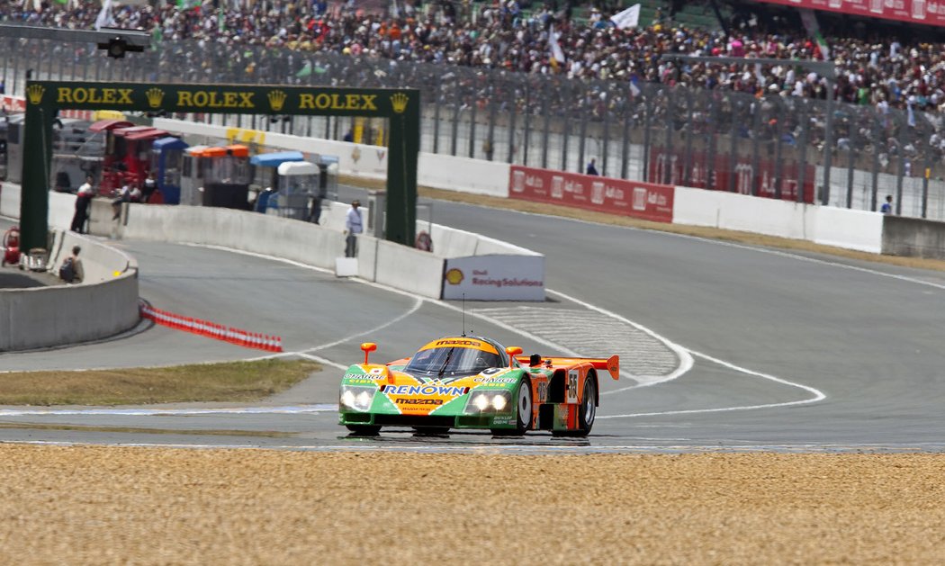
[[[363,193],[345,189],[342,196]],[[286,351],[318,357],[325,371],[253,406],[4,407],[0,422],[94,430],[0,428],[0,440],[418,451],[945,448],[945,274],[444,201],[435,203],[434,221],[547,257],[547,300],[476,303],[476,334],[525,352],[621,354],[625,378],[602,384],[588,440],[430,438],[407,431],[349,437],[335,424],[333,405],[337,371],[359,359],[358,343],[378,342],[382,359],[407,355],[431,337],[461,331],[457,304],[269,258],[130,241],[118,245],[139,261],[143,299],[185,316],[279,334]],[[95,344],[0,354],[0,369],[257,355],[143,323]]]

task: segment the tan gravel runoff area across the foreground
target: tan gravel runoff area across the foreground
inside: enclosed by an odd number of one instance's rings
[[[945,455],[0,446],[8,564],[941,564]]]

